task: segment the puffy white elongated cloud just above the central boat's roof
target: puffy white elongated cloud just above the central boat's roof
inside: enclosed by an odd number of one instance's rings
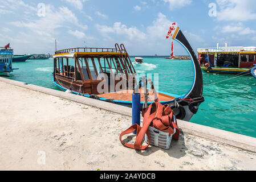
[[[117,35],[127,35],[128,38],[131,39],[145,39],[146,34],[141,32],[136,27],[127,27],[125,24],[121,24],[121,22],[116,22],[113,24],[113,27],[108,27],[105,25],[96,24],[97,30],[99,30],[102,34],[114,33]]]

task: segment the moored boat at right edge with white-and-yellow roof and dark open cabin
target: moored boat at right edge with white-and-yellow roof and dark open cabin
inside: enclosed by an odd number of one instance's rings
[[[198,48],[198,61],[207,73],[249,75],[256,64],[256,47]]]

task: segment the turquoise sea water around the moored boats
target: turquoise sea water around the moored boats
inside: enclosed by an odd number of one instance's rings
[[[19,68],[11,74],[13,80],[59,89],[52,84],[52,59],[27,60],[25,63],[13,63],[13,67]],[[134,64],[134,67],[140,74],[159,73],[159,90],[164,92],[182,95],[192,86],[191,61],[148,57],[144,64]],[[256,137],[256,79],[242,76],[209,85],[234,75],[203,72],[203,76],[205,102],[191,122]]]

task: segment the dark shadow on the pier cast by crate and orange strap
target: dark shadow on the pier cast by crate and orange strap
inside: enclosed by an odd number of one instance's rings
[[[129,135],[127,138],[125,138],[123,140],[123,142],[124,143],[134,143],[135,139],[136,139],[136,135]],[[143,145],[145,145],[145,144],[146,143],[144,142]],[[137,152],[137,154],[140,154],[140,155],[143,155],[143,156],[149,156],[149,155],[151,155],[154,152],[159,151],[159,150],[166,152],[170,157],[176,158],[176,159],[180,159],[183,156],[185,156],[186,151],[188,150],[188,148],[186,148],[186,146],[185,146],[183,131],[182,130],[180,131],[179,140],[174,140],[174,139],[172,140],[172,142],[170,143],[170,149],[169,150],[165,150],[164,148],[149,145],[149,147],[146,150],[144,150],[144,151],[136,150],[136,152]]]

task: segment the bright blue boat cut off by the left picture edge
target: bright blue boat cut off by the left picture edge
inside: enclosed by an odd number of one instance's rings
[[[0,47],[0,76],[9,76],[13,71],[13,49]]]

